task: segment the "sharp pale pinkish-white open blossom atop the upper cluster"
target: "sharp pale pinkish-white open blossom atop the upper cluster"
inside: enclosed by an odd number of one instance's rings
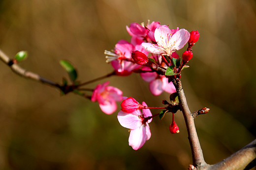
[[[182,49],[190,39],[186,29],[169,29],[166,25],[156,28],[154,38],[157,44],[142,43],[142,47],[151,53],[171,56],[175,50]]]

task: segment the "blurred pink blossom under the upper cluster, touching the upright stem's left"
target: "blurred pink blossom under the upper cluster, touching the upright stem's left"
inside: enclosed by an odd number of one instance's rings
[[[150,69],[148,67],[143,67],[143,70]],[[166,78],[164,75],[159,75],[156,72],[148,72],[140,73],[140,76],[143,80],[149,82],[149,90],[155,96],[160,95],[163,91],[170,94],[176,92],[172,82],[168,83],[168,78]]]

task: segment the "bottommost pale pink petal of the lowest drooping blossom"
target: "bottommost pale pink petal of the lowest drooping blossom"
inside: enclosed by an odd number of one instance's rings
[[[141,148],[145,144],[146,140],[147,135],[145,126],[140,126],[139,128],[130,131],[128,140],[129,146],[131,146],[134,150]]]

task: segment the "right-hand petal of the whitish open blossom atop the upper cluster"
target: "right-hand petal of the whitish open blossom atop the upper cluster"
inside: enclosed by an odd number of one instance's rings
[[[189,39],[190,32],[186,29],[180,29],[175,34],[173,34],[171,40],[169,41],[169,45],[174,44],[172,50],[179,50],[188,43]]]

